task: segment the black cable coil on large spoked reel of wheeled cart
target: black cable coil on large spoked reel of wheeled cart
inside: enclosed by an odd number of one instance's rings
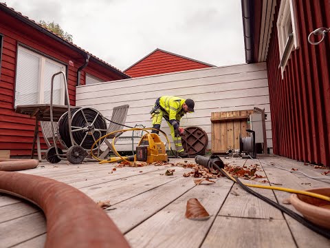
[[[79,111],[80,110],[80,111]],[[77,113],[76,113],[77,112]],[[83,113],[85,114],[85,117],[88,121],[88,123],[86,122]],[[74,116],[74,113],[76,113],[76,115]],[[98,117],[96,118],[96,115],[98,114]],[[95,130],[107,130],[107,123],[104,120],[104,117],[102,116],[102,114],[100,114],[100,112],[98,112],[97,110],[94,110],[92,108],[86,107],[86,108],[74,108],[71,109],[71,116],[72,116],[72,127],[87,127],[88,124],[93,123],[94,121],[94,129]],[[70,138],[70,134],[69,132],[71,132],[71,130],[69,130],[69,121],[68,121],[68,117],[67,117],[67,112],[65,114],[63,114],[63,116],[61,116],[60,120],[58,121],[58,127],[59,127],[59,134],[61,136],[61,140],[63,141],[63,145],[65,145],[66,147],[72,147],[72,143],[71,143],[71,138]],[[72,130],[75,130],[76,128],[72,128]],[[81,130],[78,132],[72,132],[72,136],[74,138],[74,141],[80,145],[80,143],[83,141],[85,135],[86,135],[87,131]],[[101,136],[104,136],[107,132],[106,131],[101,131]],[[95,141],[98,140],[98,138],[100,138],[100,133],[95,131],[93,132],[93,135],[91,134],[91,132],[89,134],[87,134],[85,141],[83,142],[83,144],[81,145],[84,149],[91,149],[91,146],[94,144],[94,138]],[[102,139],[100,141],[100,144],[102,144],[102,142],[104,141],[104,139]],[[98,144],[95,146],[96,148],[98,147]]]

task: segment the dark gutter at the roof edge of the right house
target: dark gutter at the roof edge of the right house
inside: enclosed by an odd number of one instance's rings
[[[253,0],[241,0],[242,19],[243,19],[243,33],[245,46],[245,62],[253,63]]]

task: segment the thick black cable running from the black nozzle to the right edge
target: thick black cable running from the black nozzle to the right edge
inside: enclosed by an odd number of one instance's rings
[[[223,176],[225,176],[226,178],[232,180],[232,178],[230,178],[222,168],[220,168],[216,163],[214,163],[212,161],[212,159],[210,160],[212,163],[212,167],[215,169],[218,169]],[[285,214],[287,214],[288,216],[294,218],[295,220],[297,220],[299,223],[305,225],[305,227],[308,227],[309,229],[311,229],[312,231],[315,231],[316,233],[324,236],[325,238],[330,238],[330,231],[329,230],[324,230],[324,228],[319,227],[318,225],[315,225],[314,223],[311,223],[309,220],[303,218],[302,216],[300,216],[299,214],[296,214],[294,211],[292,211],[291,209],[288,209],[287,207],[284,207],[276,202],[274,202],[273,200],[270,200],[270,198],[267,198],[257,192],[255,192],[254,190],[250,189],[249,187],[243,185],[243,183],[239,180],[239,178],[237,178],[236,176],[234,177],[236,182],[248,193],[260,198],[261,200],[265,201],[266,203],[272,205],[273,207],[276,207],[277,209],[281,210],[282,212],[284,212]]]

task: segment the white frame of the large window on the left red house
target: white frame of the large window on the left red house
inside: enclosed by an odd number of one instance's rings
[[[45,79],[44,79],[45,73],[44,73],[44,70],[45,70],[46,61],[49,61],[50,63],[54,63],[55,65],[58,65],[59,67],[61,67],[63,72],[65,72],[65,74],[67,74],[67,67],[62,63],[58,63],[57,61],[54,61],[53,59],[49,59],[49,58],[39,54],[38,52],[33,52],[32,50],[30,50],[28,48],[25,48],[23,45],[17,45],[17,50],[23,50],[24,52],[32,54],[33,56],[39,57],[38,104],[45,103]],[[18,56],[17,56],[17,59],[19,59]],[[63,79],[61,79],[61,80],[63,80]],[[15,81],[15,85],[16,85],[16,83],[17,82]],[[65,105],[65,88],[64,88],[65,85],[64,85],[64,82],[63,82],[62,85],[63,85],[63,87],[61,87],[60,104]],[[14,103],[15,108],[17,107],[16,99],[17,99],[17,96],[15,94],[15,103]]]

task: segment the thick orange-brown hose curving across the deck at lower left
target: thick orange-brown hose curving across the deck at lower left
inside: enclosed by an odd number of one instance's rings
[[[45,247],[129,247],[111,218],[83,192],[50,178],[9,172],[37,165],[33,159],[0,159],[0,192],[43,209],[47,219]]]

